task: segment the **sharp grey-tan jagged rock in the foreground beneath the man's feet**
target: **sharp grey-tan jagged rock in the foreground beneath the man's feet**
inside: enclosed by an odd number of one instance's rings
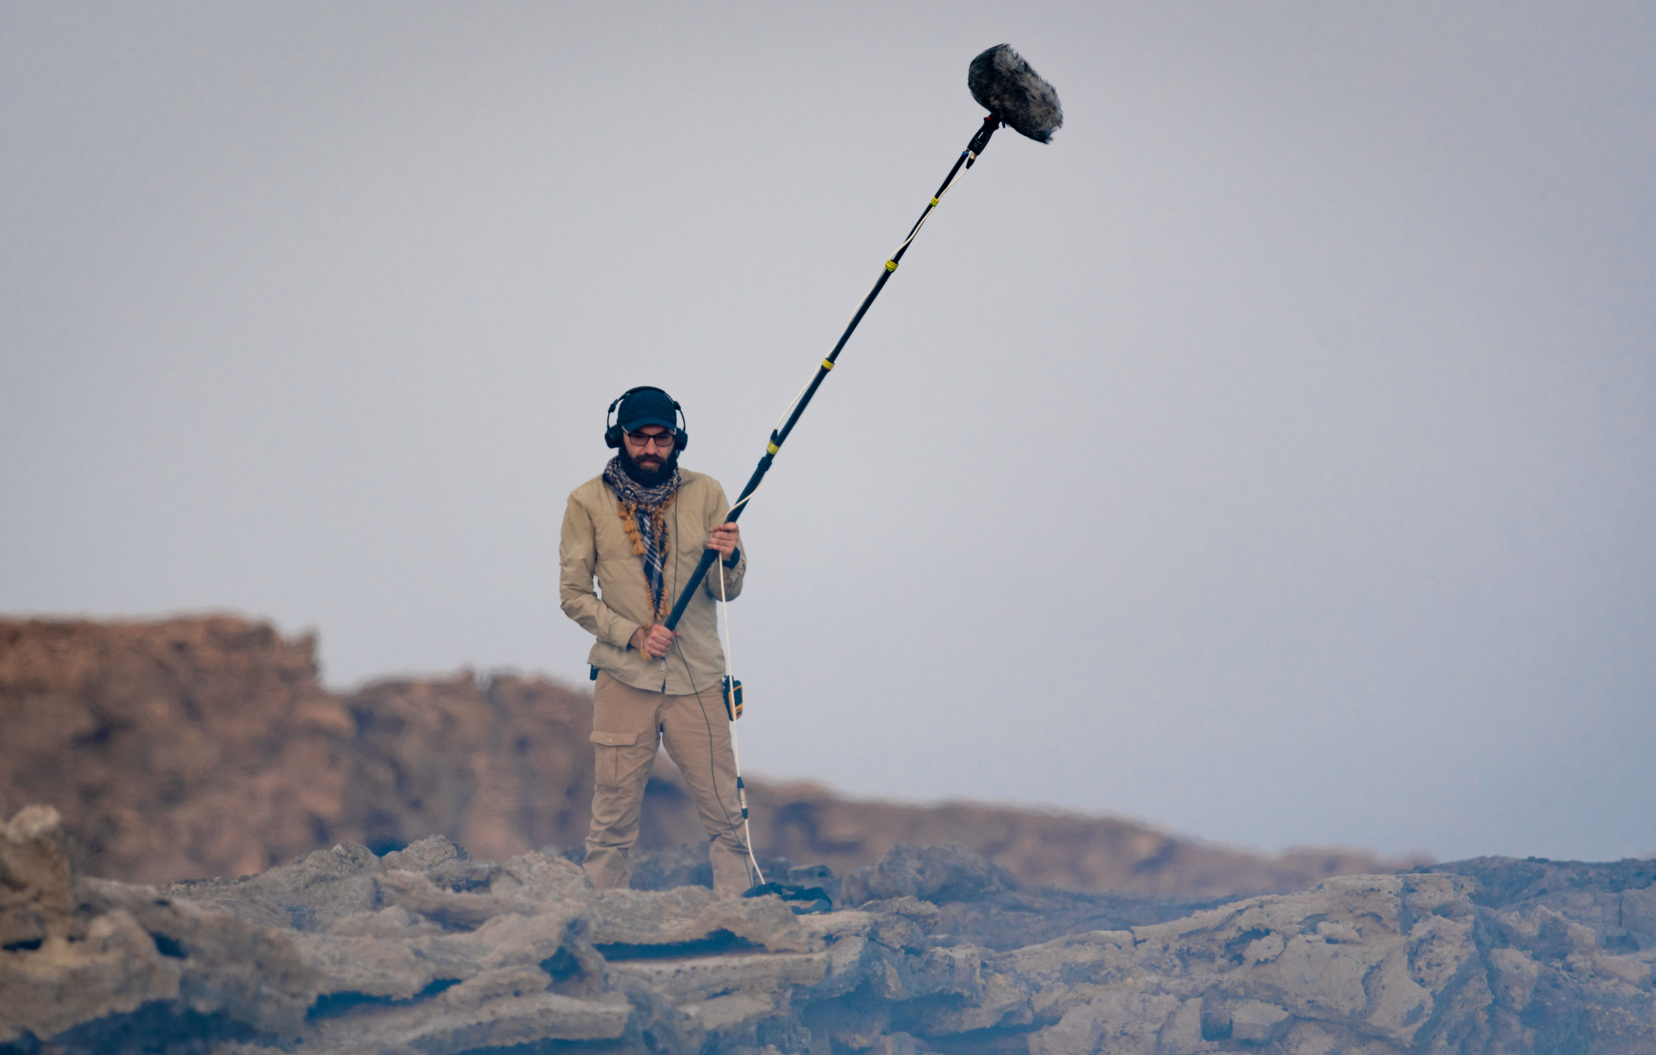
[[[1174,906],[903,846],[845,878],[858,908],[795,916],[431,838],[146,888],[76,878],[30,807],[0,840],[0,1052],[1648,1053],[1653,881],[1484,858],[1091,929]],[[1080,932],[1009,947],[1020,916]]]

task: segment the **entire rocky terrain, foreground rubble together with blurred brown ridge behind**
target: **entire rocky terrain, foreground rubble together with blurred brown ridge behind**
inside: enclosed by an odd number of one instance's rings
[[[833,898],[797,914],[714,901],[664,765],[599,893],[561,850],[590,730],[517,674],[331,692],[233,616],[0,619],[0,1055],[1656,1053],[1651,861],[1399,873],[752,780],[767,874]]]

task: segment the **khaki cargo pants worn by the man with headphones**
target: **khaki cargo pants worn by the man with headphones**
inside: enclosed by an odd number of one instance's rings
[[[684,773],[707,830],[714,893],[735,898],[749,878],[742,807],[735,793],[735,754],[717,687],[700,694],[646,692],[598,671],[593,686],[593,826],[586,835],[586,874],[599,889],[628,884],[626,853],[638,841],[644,783],[659,742]]]

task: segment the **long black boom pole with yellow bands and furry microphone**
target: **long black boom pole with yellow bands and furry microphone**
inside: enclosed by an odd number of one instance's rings
[[[765,457],[758,459],[758,465],[753,469],[753,475],[749,477],[747,487],[742,489],[740,497],[737,497],[735,505],[730,507],[727,520],[737,520],[742,510],[747,508],[747,500],[753,497],[758,490],[760,480],[770,472],[770,464],[777,460],[777,454],[782,450],[782,444],[787,442],[788,434],[793,432],[793,426],[798,424],[800,416],[805,407],[810,406],[811,396],[821,386],[828,371],[840,359],[840,351],[845,349],[845,343],[851,340],[856,333],[856,325],[863,321],[868,315],[869,305],[879,296],[879,291],[886,288],[886,282],[896,273],[898,265],[903,263],[903,253],[909,252],[909,245],[914,242],[914,235],[921,232],[926,219],[934,209],[942,202],[942,195],[949,192],[962,166],[970,169],[977,156],[984,152],[989,146],[989,137],[995,134],[995,129],[1002,124],[1010,124],[1015,131],[1035,139],[1038,142],[1048,142],[1052,139],[1053,129],[1063,124],[1063,113],[1058,109],[1058,94],[1053,91],[1052,84],[1040,79],[1028,63],[1025,63],[1017,51],[1009,45],[997,45],[989,48],[982,55],[972,60],[970,71],[967,73],[967,86],[972,89],[972,96],[989,109],[989,116],[979,126],[977,132],[972,134],[972,141],[965,144],[960,156],[956,159],[954,167],[949,169],[949,176],[937,185],[937,194],[926,202],[926,209],[921,212],[921,219],[914,220],[914,227],[909,229],[909,237],[903,240],[898,252],[891,253],[886,260],[884,268],[879,272],[879,278],[874,282],[874,288],[868,291],[863,303],[856,308],[856,315],[846,325],[845,333],[835,343],[833,351],[828,358],[821,361],[816,368],[816,376],[805,388],[800,397],[793,404],[793,411],[780,429],[772,429],[770,442],[765,444]],[[704,550],[700,563],[696,565],[696,573],[691,575],[689,583],[686,583],[684,591],[679,600],[672,605],[672,611],[667,614],[662,626],[667,629],[676,629],[679,619],[684,618],[684,609],[689,608],[691,598],[696,596],[696,590],[707,578],[707,571],[712,570],[714,560],[719,558],[717,550]]]

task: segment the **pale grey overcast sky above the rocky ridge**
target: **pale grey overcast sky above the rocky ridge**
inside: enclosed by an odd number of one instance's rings
[[[1648,3],[0,3],[0,611],[585,686],[634,384],[742,757],[1262,848],[1656,851]]]

